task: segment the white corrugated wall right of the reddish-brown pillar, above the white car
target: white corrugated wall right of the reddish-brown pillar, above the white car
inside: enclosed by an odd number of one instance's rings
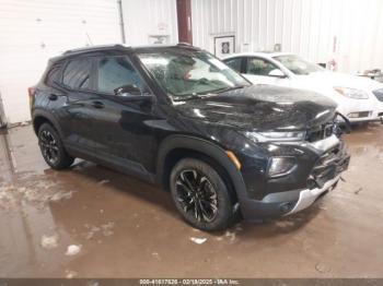
[[[211,35],[234,32],[236,51],[281,43],[314,62],[335,59],[340,71],[383,69],[382,0],[192,0],[192,15],[194,45],[210,51]]]

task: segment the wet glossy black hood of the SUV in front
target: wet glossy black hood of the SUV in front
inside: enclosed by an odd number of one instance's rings
[[[245,130],[304,130],[334,118],[336,104],[316,93],[252,85],[175,105],[181,116]]]

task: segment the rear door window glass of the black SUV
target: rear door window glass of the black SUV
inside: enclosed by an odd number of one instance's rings
[[[70,61],[63,71],[62,83],[73,90],[89,88],[91,68],[90,59]]]

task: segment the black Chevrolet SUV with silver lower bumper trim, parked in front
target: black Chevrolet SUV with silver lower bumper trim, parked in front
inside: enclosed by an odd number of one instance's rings
[[[332,100],[251,85],[192,46],[69,50],[28,92],[50,167],[80,157],[161,183],[204,230],[305,208],[349,162]]]

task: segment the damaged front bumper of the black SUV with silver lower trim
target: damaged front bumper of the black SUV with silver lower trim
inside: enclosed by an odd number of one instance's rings
[[[333,135],[313,143],[312,146],[321,151],[321,155],[309,176],[303,178],[306,181],[305,187],[270,192],[262,200],[248,196],[239,198],[241,212],[245,219],[257,221],[297,213],[313,204],[321,194],[335,188],[350,160],[344,143]]]

